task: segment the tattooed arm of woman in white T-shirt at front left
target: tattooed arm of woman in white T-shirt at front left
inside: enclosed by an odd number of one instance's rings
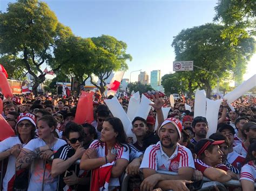
[[[28,165],[32,163],[32,161],[37,158],[38,154],[40,153],[39,148],[36,148],[35,151],[26,152],[21,150],[17,160],[16,160],[16,169],[26,168]]]

